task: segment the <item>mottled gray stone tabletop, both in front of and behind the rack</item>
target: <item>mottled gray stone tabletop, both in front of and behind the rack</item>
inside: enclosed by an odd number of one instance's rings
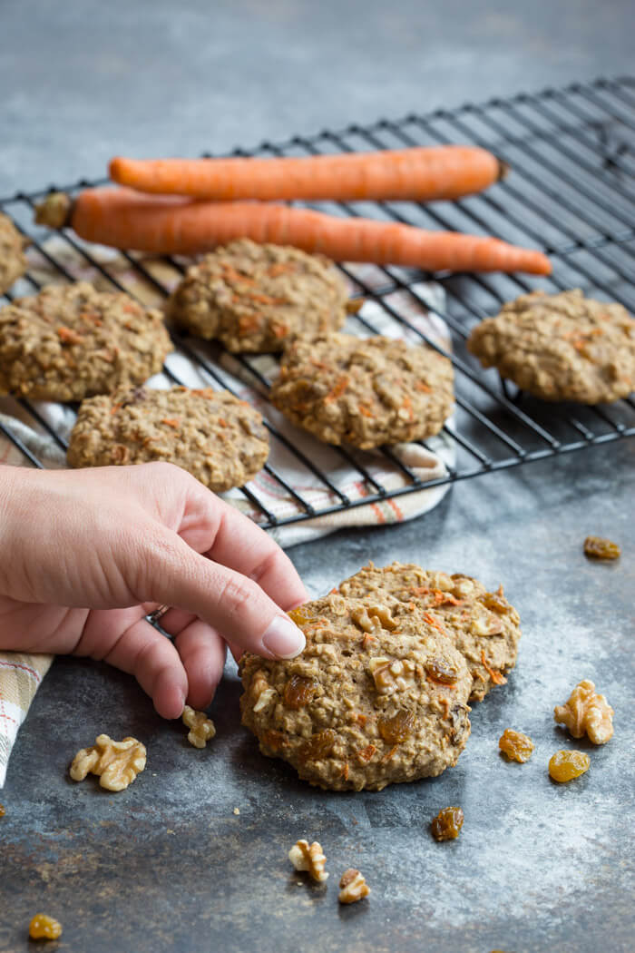
[[[227,150],[617,74],[631,23],[625,0],[4,3],[0,193],[98,175],[112,152]],[[312,595],[368,558],[505,584],[523,620],[518,667],[475,706],[459,764],[434,781],[314,790],[258,754],[233,671],[211,709],[217,738],[199,752],[132,679],[58,659],[0,792],[0,951],[34,945],[40,909],[65,927],[48,948],[94,953],[632,949],[634,455],[634,441],[610,444],[466,481],[420,520],[291,551]],[[586,561],[588,533],[620,541],[621,560]],[[552,721],[582,678],[616,709],[600,749]],[[536,741],[526,765],[498,755],[508,726]],[[120,795],[66,774],[103,730],[149,748]],[[546,762],[569,746],[589,751],[591,769],[557,786]],[[428,822],[450,803],[465,810],[463,833],[436,844]],[[292,874],[298,837],[323,843],[326,889]],[[373,892],[344,909],[336,882],[350,864]]]

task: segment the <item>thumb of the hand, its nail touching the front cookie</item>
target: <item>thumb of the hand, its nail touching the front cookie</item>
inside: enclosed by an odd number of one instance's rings
[[[293,659],[304,649],[302,630],[253,579],[200,556],[169,530],[153,544],[147,537],[144,549],[139,601],[195,613],[226,641],[265,659]]]

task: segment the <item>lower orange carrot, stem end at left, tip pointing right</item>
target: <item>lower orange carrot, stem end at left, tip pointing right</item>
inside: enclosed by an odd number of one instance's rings
[[[208,252],[246,237],[321,252],[335,261],[407,265],[430,272],[551,271],[543,253],[498,238],[425,232],[410,225],[338,218],[286,205],[192,202],[128,189],[87,189],[73,200],[52,193],[39,207],[37,221],[50,228],[69,225],[80,237],[102,245],[156,254]]]

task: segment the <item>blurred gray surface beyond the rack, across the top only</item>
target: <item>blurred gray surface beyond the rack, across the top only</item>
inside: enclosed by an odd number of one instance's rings
[[[0,194],[628,71],[630,0],[0,2]]]

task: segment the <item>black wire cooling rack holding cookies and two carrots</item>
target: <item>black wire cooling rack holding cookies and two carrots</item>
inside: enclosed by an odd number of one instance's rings
[[[565,89],[520,93],[485,104],[467,103],[453,110],[437,110],[426,115],[410,113],[404,118],[380,119],[370,126],[351,125],[339,132],[325,130],[311,136],[294,136],[273,145],[263,142],[257,149],[237,149],[234,155],[303,155],[320,152],[354,152],[368,149],[396,149],[405,146],[444,143],[472,143],[494,152],[511,167],[505,181],[486,193],[457,202],[423,205],[412,202],[323,203],[328,212],[368,215],[431,229],[495,234],[509,242],[544,249],[553,262],[549,278],[530,279],[522,275],[435,274],[427,275],[400,268],[342,266],[352,285],[353,297],[376,302],[381,314],[403,330],[428,340],[412,323],[411,310],[404,302],[420,305],[446,321],[452,336],[450,356],[455,369],[455,422],[446,427],[446,438],[456,449],[456,463],[447,476],[422,483],[413,470],[389,448],[381,451],[385,466],[402,477],[403,485],[387,489],[373,476],[370,456],[352,448],[332,448],[336,464],[349,468],[360,494],[351,498],[319,467],[317,454],[301,451],[296,442],[271,422],[267,423],[271,442],[291,455],[296,472],[304,470],[316,487],[324,491],[324,504],[312,505],[298,485],[291,485],[268,464],[269,482],[291,504],[290,515],[274,515],[253,484],[241,488],[251,515],[261,525],[299,522],[367,503],[413,493],[424,486],[466,479],[518,466],[557,454],[635,436],[633,396],[617,403],[596,407],[546,404],[518,393],[495,372],[484,372],[466,352],[471,327],[481,318],[496,314],[506,300],[534,288],[556,292],[582,288],[585,294],[619,301],[635,313],[635,79],[597,79],[576,83]],[[75,192],[101,182],[80,181],[71,186],[55,186]],[[113,289],[126,291],[125,280],[94,249],[63,233],[53,247],[50,233],[33,225],[34,202],[50,190],[17,193],[0,199],[0,209],[10,214],[32,242],[33,260],[43,262],[55,278],[73,280],[65,244],[87,270],[108,282]],[[143,256],[122,253],[127,267],[155,291],[167,294],[164,279],[157,278]],[[183,274],[187,262],[162,259],[175,274]],[[443,307],[430,302],[427,279],[445,290]],[[24,293],[37,291],[42,284],[36,265],[23,282]],[[20,291],[22,289],[20,288]],[[6,295],[10,300],[10,295]],[[437,299],[438,300],[438,299]],[[376,311],[376,310],[375,310]],[[376,333],[372,320],[361,314],[351,318]],[[201,375],[215,386],[228,386],[222,354],[215,345],[203,345],[193,338],[173,335],[177,351],[197,365]],[[428,341],[429,343],[429,341]],[[434,343],[434,342],[432,342]],[[445,352],[444,352],[445,353]],[[248,375],[254,396],[263,395],[268,377],[258,359],[238,358],[242,377]],[[170,365],[169,379],[180,382]],[[38,404],[20,400],[23,414],[29,415],[65,448],[66,441],[50,425]],[[34,466],[42,461],[25,445],[10,424],[0,422],[0,430]],[[305,438],[306,440],[306,438]],[[303,444],[306,446],[306,442]]]

